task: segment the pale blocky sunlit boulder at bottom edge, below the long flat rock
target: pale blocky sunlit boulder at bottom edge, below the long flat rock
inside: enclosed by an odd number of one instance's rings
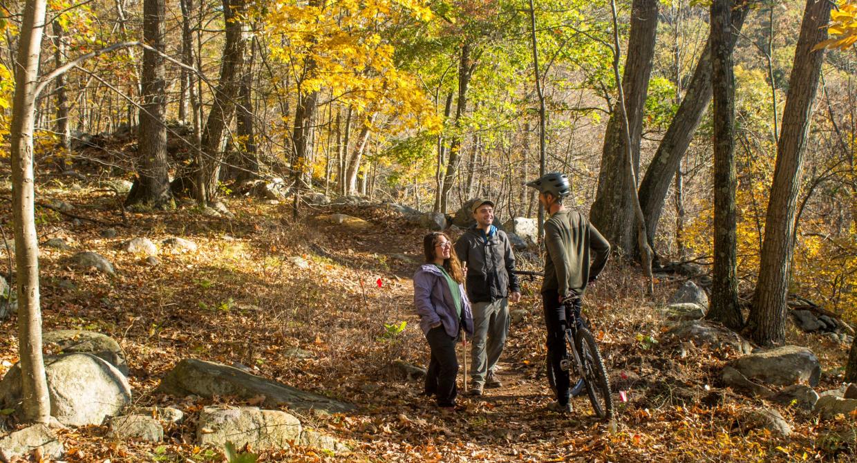
[[[289,448],[300,442],[300,420],[279,410],[255,406],[207,406],[197,421],[196,442],[222,448],[232,442],[236,448]]]

